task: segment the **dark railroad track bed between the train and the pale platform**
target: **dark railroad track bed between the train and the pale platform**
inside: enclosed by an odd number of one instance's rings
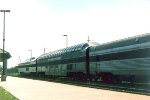
[[[104,83],[104,82],[93,82],[93,81],[87,82],[87,81],[78,81],[78,80],[68,80],[65,78],[58,79],[58,78],[45,78],[45,77],[41,77],[41,78],[32,77],[32,79],[150,96],[150,84],[130,84],[130,83],[115,84],[115,83]]]

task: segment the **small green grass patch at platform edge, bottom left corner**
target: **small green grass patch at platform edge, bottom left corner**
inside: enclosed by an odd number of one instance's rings
[[[9,92],[7,92],[4,88],[0,87],[0,100],[18,100],[18,99]]]

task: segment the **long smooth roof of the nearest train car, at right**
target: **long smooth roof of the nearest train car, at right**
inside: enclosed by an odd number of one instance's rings
[[[120,39],[108,43],[103,43],[100,44],[99,46],[94,47],[91,50],[105,50],[105,49],[123,47],[123,46],[134,45],[134,44],[145,43],[145,42],[150,42],[150,33],[128,37],[125,39]]]

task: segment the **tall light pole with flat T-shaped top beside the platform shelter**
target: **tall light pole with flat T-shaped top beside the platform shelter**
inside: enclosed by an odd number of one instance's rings
[[[1,76],[1,81],[6,81],[6,74],[7,74],[7,61],[5,60],[5,12],[10,12],[10,10],[0,10],[0,12],[4,13],[4,26],[3,26],[3,73]]]

